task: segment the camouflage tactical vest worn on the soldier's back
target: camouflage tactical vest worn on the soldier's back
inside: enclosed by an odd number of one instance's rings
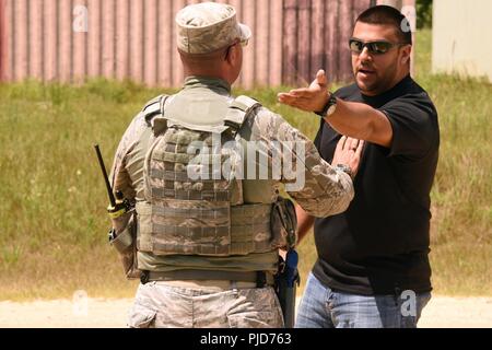
[[[145,118],[155,116],[155,139],[144,161],[145,200],[137,203],[138,249],[157,256],[232,256],[295,244],[292,203],[244,203],[243,180],[236,178],[245,171],[243,159],[224,147],[244,142],[239,130],[261,105],[239,96],[221,125],[208,126],[166,114],[166,98],[144,110]]]

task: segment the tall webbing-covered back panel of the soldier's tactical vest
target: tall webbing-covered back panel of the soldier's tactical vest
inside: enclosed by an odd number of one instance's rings
[[[169,128],[151,155],[149,179],[154,184],[150,188],[154,203],[152,230],[160,232],[159,238],[154,241],[154,254],[161,252],[164,254],[167,252],[199,255],[229,254],[230,183],[222,178],[191,179],[187,171],[178,171],[187,170],[189,163],[197,158],[196,154],[179,153],[185,148],[188,150],[192,142],[202,142],[201,147],[207,148],[211,160],[221,162],[222,155],[213,154],[207,139],[209,139],[208,133]],[[209,160],[209,158],[206,159],[206,161]],[[209,172],[209,165],[206,163],[204,166]],[[166,208],[166,201],[179,207]],[[183,214],[186,210],[190,210],[189,213]],[[207,219],[201,214],[196,215],[206,211]]]

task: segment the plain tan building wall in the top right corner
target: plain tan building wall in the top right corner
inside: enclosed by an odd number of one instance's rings
[[[433,71],[492,82],[492,1],[434,0],[433,11]]]

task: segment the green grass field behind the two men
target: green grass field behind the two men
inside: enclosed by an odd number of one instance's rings
[[[417,80],[435,102],[442,130],[432,191],[435,293],[491,295],[492,85],[431,75],[430,46],[430,32],[419,32]],[[248,94],[314,138],[318,119],[279,105],[283,90]],[[133,295],[137,283],[125,280],[107,245],[107,199],[92,145],[101,144],[109,167],[133,115],[160,93],[104,80],[0,85],[0,300],[71,298],[80,289]],[[316,259],[312,235],[300,253],[305,280]]]

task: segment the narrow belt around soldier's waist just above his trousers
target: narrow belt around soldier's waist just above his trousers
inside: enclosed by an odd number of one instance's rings
[[[218,280],[255,282],[257,288],[273,285],[273,276],[265,271],[215,271],[215,270],[174,270],[174,271],[143,271],[140,282],[151,281],[186,281],[186,280]]]

